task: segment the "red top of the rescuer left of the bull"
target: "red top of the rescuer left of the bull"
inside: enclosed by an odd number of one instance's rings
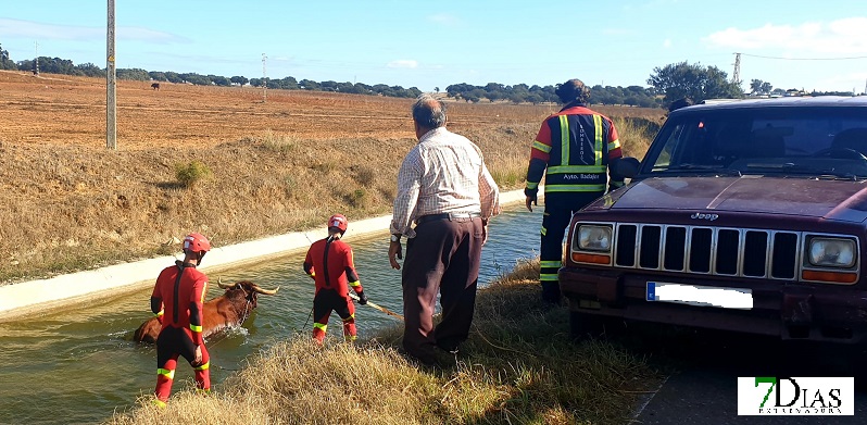
[[[176,261],[156,278],[151,295],[151,311],[162,316],[163,329],[168,326],[189,328],[197,346],[203,343],[202,304],[208,292],[208,276],[192,264]]]

